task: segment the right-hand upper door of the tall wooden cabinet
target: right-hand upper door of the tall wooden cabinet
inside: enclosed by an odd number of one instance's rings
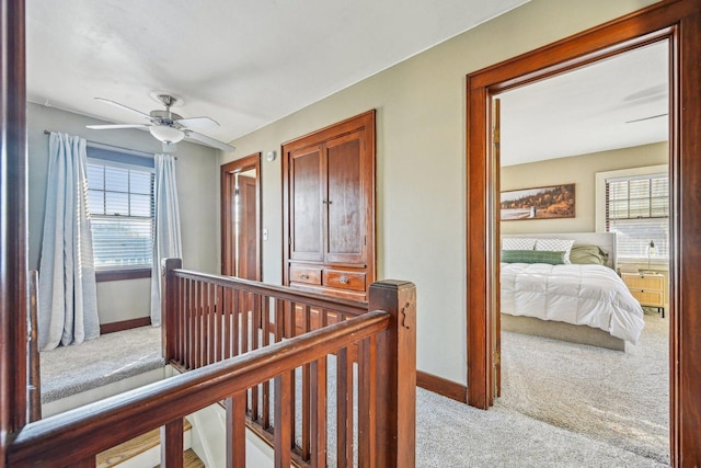
[[[366,203],[360,133],[326,142],[325,262],[365,262]]]

